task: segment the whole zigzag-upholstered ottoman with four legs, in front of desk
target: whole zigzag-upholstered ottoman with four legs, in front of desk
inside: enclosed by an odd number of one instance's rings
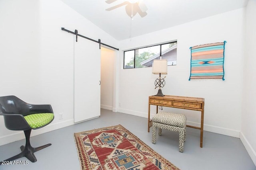
[[[158,135],[162,135],[162,129],[179,133],[179,151],[183,152],[186,140],[186,115],[160,112],[152,117],[152,143],[156,144],[156,127]]]

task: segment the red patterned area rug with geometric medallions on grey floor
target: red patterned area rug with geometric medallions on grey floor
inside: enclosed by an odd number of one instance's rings
[[[81,170],[179,170],[122,125],[74,133]]]

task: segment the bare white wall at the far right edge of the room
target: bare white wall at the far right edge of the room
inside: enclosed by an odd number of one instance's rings
[[[249,0],[246,7],[244,95],[242,107],[241,141],[256,165],[256,1]]]

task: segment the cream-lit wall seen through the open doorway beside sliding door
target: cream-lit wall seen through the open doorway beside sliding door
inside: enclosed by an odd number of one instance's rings
[[[114,60],[115,52],[102,47],[100,61],[100,107],[108,110],[113,109]]]

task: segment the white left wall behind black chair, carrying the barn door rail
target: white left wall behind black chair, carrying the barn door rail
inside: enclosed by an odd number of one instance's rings
[[[51,104],[55,114],[50,125],[32,131],[32,136],[74,124],[75,36],[61,27],[117,46],[114,38],[60,0],[0,1],[0,96]],[[58,119],[59,113],[64,119]],[[7,130],[3,122],[0,117],[0,145],[24,138],[23,132]]]

